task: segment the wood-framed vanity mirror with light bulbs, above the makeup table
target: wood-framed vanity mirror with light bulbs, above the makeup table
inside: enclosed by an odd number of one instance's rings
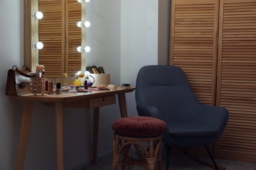
[[[43,13],[41,20],[35,12]],[[86,2],[77,0],[24,0],[24,54],[25,65],[45,65],[45,76],[61,77],[85,70],[86,53],[77,51],[85,46]],[[42,42],[43,48],[35,47]],[[38,43],[37,43],[38,44]]]

